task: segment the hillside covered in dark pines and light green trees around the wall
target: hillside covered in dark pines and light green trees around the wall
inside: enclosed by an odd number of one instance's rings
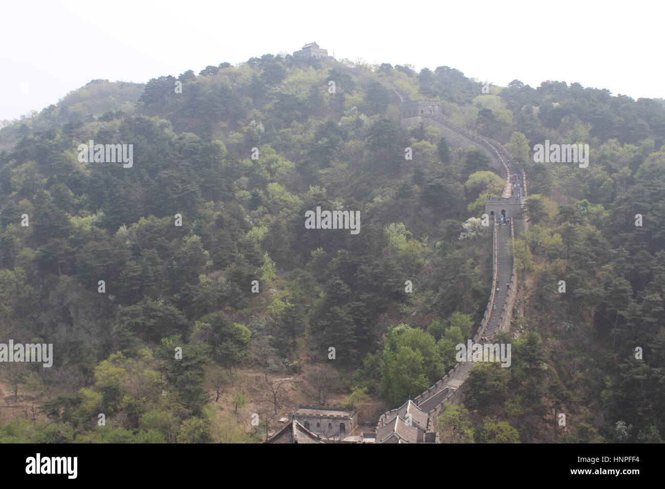
[[[298,403],[372,424],[440,379],[483,316],[477,218],[504,182],[438,128],[400,128],[398,92],[529,179],[513,367],[474,371],[442,441],[661,441],[660,100],[273,55],[157,75],[0,130],[0,341],[54,351],[1,365],[0,442],[260,442]],[[133,165],[81,162],[90,140],[132,144]],[[535,164],[545,140],[589,144],[589,167]],[[319,207],[358,211],[358,234],[307,229]]]

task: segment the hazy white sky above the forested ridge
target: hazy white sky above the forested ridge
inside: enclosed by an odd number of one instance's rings
[[[92,79],[146,82],[317,41],[337,59],[664,97],[660,0],[4,3],[0,120]]]

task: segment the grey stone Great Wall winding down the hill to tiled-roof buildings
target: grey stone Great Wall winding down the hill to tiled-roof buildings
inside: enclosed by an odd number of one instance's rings
[[[343,65],[342,70],[354,75],[363,74],[358,69]],[[437,100],[410,100],[408,95],[396,86],[385,80],[380,82],[400,100],[400,126],[414,126],[423,122],[440,128],[449,146],[452,148],[473,146],[487,155],[488,166],[505,179],[501,196],[487,197],[485,200],[483,225],[489,226],[492,234],[491,291],[483,318],[475,328],[473,339],[469,340],[473,345],[480,347],[477,349],[475,346],[472,347],[470,361],[468,356],[464,357],[463,361],[458,362],[432,387],[414,399],[409,399],[402,406],[384,412],[379,417],[373,432],[362,432],[361,436],[356,437],[357,440],[346,438],[342,440],[342,442],[363,443],[437,443],[440,442],[440,438],[436,419],[444,410],[444,406],[446,403],[460,402],[465,381],[469,378],[475,363],[487,359],[485,355],[490,352],[491,341],[499,333],[509,331],[517,293],[517,271],[509,242],[515,238],[515,232],[529,228],[528,218],[523,212],[527,197],[527,182],[523,169],[499,142],[470,132],[446,118],[442,114],[442,104]],[[507,220],[499,219],[499,216],[509,218],[509,223]],[[503,358],[501,360],[503,361]],[[321,407],[317,409],[321,410]],[[327,407],[327,410],[331,408]],[[320,415],[321,413],[317,414],[319,417]],[[348,420],[351,425],[351,419]],[[310,422],[315,421],[305,419],[303,416],[301,421],[304,424],[300,424],[293,413],[291,424],[282,428],[268,443],[327,442],[327,438],[317,436],[309,430]],[[317,424],[319,423],[317,421]]]

